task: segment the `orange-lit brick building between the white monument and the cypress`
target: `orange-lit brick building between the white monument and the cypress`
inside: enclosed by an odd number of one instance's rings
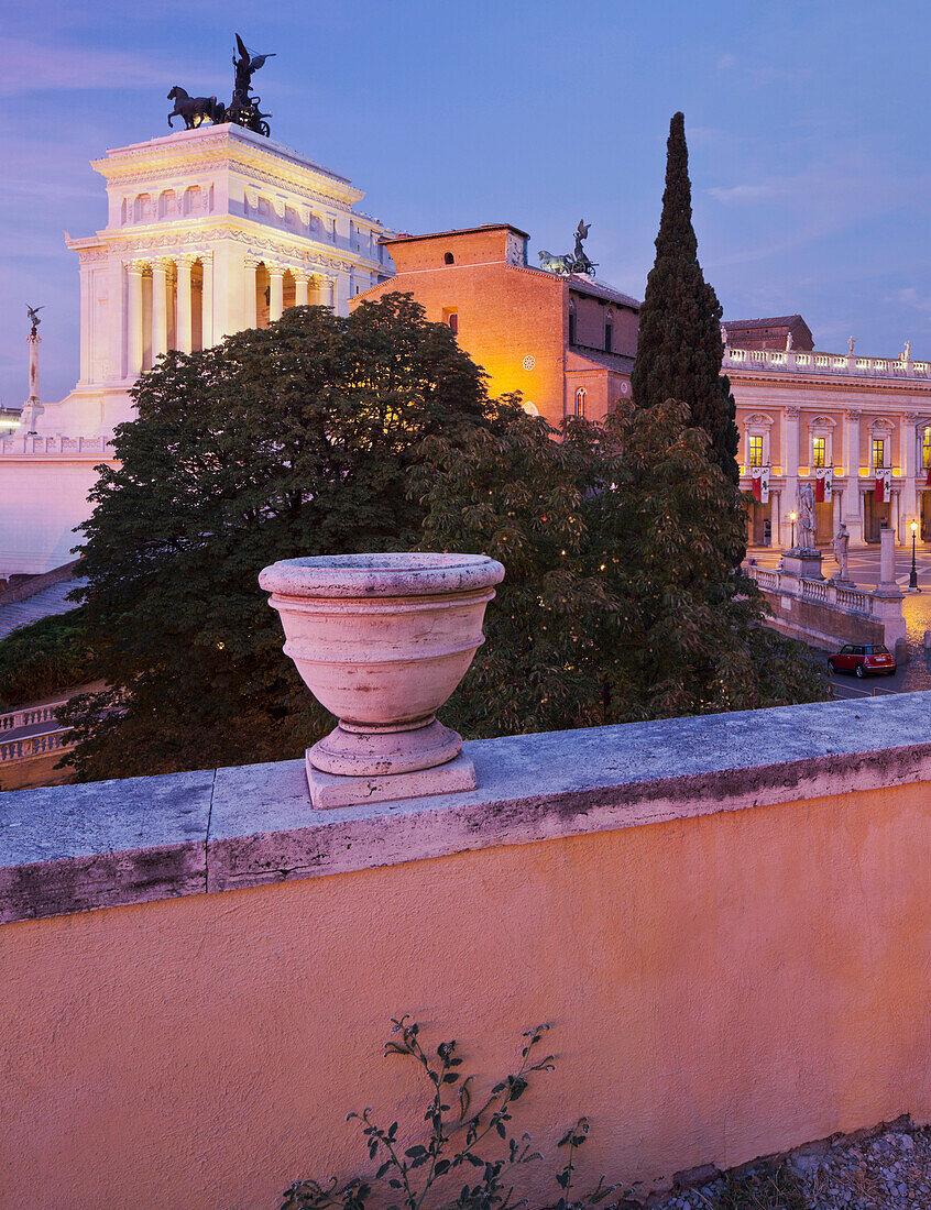
[[[492,396],[519,391],[551,425],[600,420],[630,398],[639,302],[600,282],[527,264],[510,224],[384,240],[397,273],[351,299],[414,295],[484,367]]]

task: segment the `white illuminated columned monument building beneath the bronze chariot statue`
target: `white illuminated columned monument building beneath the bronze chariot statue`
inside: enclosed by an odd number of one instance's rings
[[[0,430],[0,575],[73,558],[94,467],[160,353],[209,347],[304,302],[347,315],[354,294],[393,271],[385,227],[354,209],[361,190],[240,126],[119,148],[93,167],[107,226],[67,237],[80,261],[80,379],[44,404],[34,433]]]

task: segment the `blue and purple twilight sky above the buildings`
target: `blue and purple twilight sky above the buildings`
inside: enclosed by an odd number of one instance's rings
[[[592,224],[598,276],[638,298],[669,116],[728,318],[800,312],[818,348],[931,357],[927,8],[919,0],[7,0],[0,35],[0,403],[77,376],[77,258],[105,223],[88,160],[168,132],[166,93],[229,100],[232,34],[272,137],[410,232],[508,221],[531,261]]]

